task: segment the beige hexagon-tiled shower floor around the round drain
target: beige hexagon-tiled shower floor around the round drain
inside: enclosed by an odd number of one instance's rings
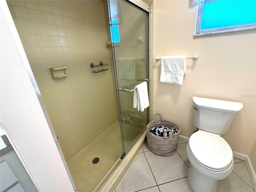
[[[67,162],[78,192],[92,192],[122,156],[119,122]],[[92,160],[98,157],[99,162]]]

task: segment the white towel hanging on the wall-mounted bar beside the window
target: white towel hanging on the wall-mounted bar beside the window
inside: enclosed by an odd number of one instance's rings
[[[162,56],[160,82],[182,85],[187,68],[186,55]]]

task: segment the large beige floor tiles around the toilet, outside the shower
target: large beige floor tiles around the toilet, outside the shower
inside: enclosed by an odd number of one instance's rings
[[[186,144],[179,140],[175,154],[161,157],[145,143],[114,192],[193,192],[188,182]],[[234,158],[234,169],[218,181],[217,192],[254,192],[244,161]]]

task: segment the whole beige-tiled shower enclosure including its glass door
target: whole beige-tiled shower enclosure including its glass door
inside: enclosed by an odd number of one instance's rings
[[[148,124],[148,12],[125,0],[7,0],[78,191],[108,179]],[[149,85],[148,85],[149,88]]]

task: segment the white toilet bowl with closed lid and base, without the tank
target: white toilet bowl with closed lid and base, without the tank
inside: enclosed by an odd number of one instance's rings
[[[215,192],[217,180],[233,170],[232,150],[218,134],[199,130],[190,137],[186,152],[190,161],[188,179],[195,192]]]

